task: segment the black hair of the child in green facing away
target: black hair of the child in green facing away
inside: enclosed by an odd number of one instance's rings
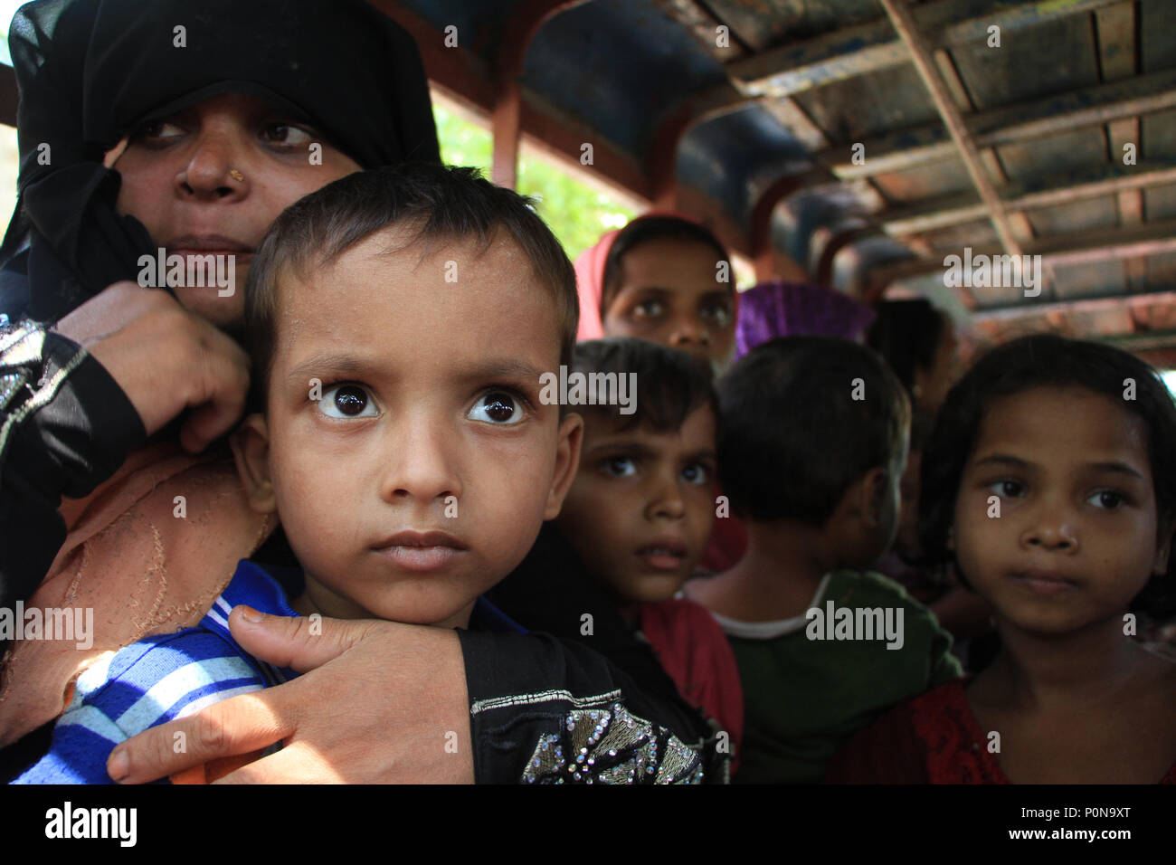
[[[733,511],[764,521],[823,525],[856,479],[891,465],[910,425],[882,358],[829,337],[756,346],[719,382],[719,406],[723,493]]]

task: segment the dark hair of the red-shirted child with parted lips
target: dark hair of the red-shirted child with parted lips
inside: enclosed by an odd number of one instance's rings
[[[620,414],[616,406],[574,406],[577,414],[607,414],[621,420],[621,430],[644,426],[656,433],[682,427],[696,408],[709,406],[719,418],[719,397],[714,373],[702,358],[630,337],[610,337],[576,342],[573,372],[590,374],[636,374],[636,404],[633,414]]]

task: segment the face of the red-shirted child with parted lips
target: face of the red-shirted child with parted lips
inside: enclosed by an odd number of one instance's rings
[[[702,406],[669,433],[620,426],[599,412],[589,415],[560,530],[622,599],[666,600],[690,575],[710,535],[715,417]]]

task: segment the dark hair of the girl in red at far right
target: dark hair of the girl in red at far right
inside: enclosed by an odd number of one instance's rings
[[[1124,399],[1127,379],[1135,399]],[[1132,354],[1098,342],[1053,334],[1022,337],[982,357],[948,393],[923,451],[918,534],[929,565],[951,561],[948,537],[964,465],[976,444],[984,412],[994,399],[1035,387],[1082,387],[1122,405],[1143,420],[1161,532],[1176,518],[1176,404],[1156,371]],[[1176,555],[1168,573],[1155,577],[1136,599],[1150,608],[1171,607]],[[961,577],[963,577],[961,574]]]

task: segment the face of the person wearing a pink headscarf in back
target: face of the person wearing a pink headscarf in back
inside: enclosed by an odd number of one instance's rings
[[[683,240],[649,240],[630,249],[602,317],[604,334],[724,362],[735,345],[735,291],[719,281],[719,262],[706,244]],[[730,265],[724,270],[729,275]]]

